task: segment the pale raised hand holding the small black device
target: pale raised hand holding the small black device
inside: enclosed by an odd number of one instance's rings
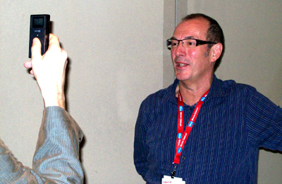
[[[26,68],[32,68],[37,84],[41,90],[45,107],[59,106],[65,109],[63,86],[68,54],[61,48],[59,38],[50,34],[48,51],[41,55],[39,39],[33,39],[31,60],[25,62]]]

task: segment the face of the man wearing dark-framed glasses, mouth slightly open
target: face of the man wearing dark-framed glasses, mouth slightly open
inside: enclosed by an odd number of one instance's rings
[[[208,28],[209,22],[203,18],[180,22],[173,33],[173,38],[207,41]],[[180,81],[201,81],[213,72],[213,65],[209,62],[209,53],[207,53],[207,44],[195,48],[184,48],[180,43],[177,48],[171,48],[171,58],[176,78]]]

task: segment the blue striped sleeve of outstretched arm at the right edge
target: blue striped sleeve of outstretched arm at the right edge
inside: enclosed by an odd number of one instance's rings
[[[282,151],[281,107],[254,89],[248,95],[246,119],[252,145]]]

